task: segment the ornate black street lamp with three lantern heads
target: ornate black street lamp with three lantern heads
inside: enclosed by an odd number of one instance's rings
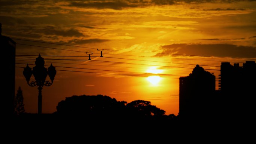
[[[51,66],[48,67],[47,71],[47,69],[44,67],[45,61],[40,54],[36,58],[35,64],[36,66],[33,67],[33,70],[31,70],[31,68],[27,64],[27,67],[24,68],[23,75],[25,76],[29,86],[38,86],[38,114],[42,114],[42,87],[52,85],[54,77],[56,75],[56,70],[55,67],[51,64]],[[32,81],[29,83],[32,74],[36,81]],[[50,77],[51,82],[45,81],[47,75]]]

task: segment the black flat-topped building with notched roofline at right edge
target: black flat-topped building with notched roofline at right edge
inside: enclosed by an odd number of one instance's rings
[[[229,62],[222,62],[219,76],[223,115],[232,119],[252,116],[256,110],[255,61],[246,61],[243,67],[239,63],[231,65]]]

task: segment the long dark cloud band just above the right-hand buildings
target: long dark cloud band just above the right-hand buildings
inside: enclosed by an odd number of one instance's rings
[[[162,53],[176,53],[186,55],[204,55],[204,56],[227,56],[239,58],[255,58],[256,47],[237,46],[229,44],[172,44],[162,46]],[[167,54],[157,54],[163,56]],[[175,56],[175,55],[173,55]]]

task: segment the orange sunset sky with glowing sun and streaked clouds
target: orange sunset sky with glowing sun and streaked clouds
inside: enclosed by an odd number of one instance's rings
[[[42,90],[43,113],[56,111],[65,97],[101,94],[151,101],[177,115],[179,77],[196,64],[218,78],[222,61],[242,66],[256,59],[255,18],[256,0],[0,0],[2,35],[17,43],[16,55],[40,53],[45,67],[56,66],[53,85]],[[97,49],[104,49],[103,57]],[[86,52],[93,53],[91,61],[78,57]],[[16,56],[16,66],[34,67],[36,57]],[[22,71],[16,68],[16,90],[21,86],[25,110],[37,113],[38,89],[27,85]]]

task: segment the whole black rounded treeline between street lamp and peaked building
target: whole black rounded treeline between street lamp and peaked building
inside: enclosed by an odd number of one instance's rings
[[[59,102],[54,115],[79,117],[84,120],[175,121],[178,119],[174,114],[165,115],[164,110],[151,105],[150,101],[135,100],[127,103],[103,95],[67,97]]]

